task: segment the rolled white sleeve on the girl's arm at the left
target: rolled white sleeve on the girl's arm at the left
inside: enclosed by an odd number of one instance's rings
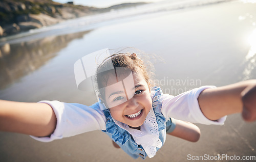
[[[49,104],[57,118],[57,124],[50,137],[34,137],[41,142],[51,142],[80,133],[105,129],[106,119],[99,104],[86,106],[78,103],[63,103],[59,101],[40,101]]]

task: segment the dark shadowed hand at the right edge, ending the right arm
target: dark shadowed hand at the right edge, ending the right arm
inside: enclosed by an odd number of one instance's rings
[[[242,116],[245,121],[256,120],[256,85],[248,86],[241,93],[243,102]]]

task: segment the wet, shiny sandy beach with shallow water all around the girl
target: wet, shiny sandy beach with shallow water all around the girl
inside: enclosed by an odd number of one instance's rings
[[[59,29],[58,35],[52,30],[1,43],[0,99],[91,105],[96,102],[94,92],[77,89],[73,65],[84,55],[106,47],[135,47],[161,57],[153,61],[155,79],[163,92],[173,95],[204,85],[255,79],[255,8],[255,3],[230,1],[113,19],[90,28]],[[241,160],[256,155],[256,122],[246,123],[236,114],[223,126],[197,125],[201,129],[199,142],[167,136],[156,156],[146,161],[210,161],[189,158],[204,155],[240,157],[216,161],[256,161]],[[0,132],[0,161],[135,159],[114,148],[111,139],[97,130],[50,143]]]

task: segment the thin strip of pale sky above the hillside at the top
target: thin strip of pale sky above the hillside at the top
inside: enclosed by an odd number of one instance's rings
[[[72,0],[53,0],[58,3],[67,3]],[[137,2],[159,2],[163,0],[73,0],[74,5],[83,5],[83,6],[93,6],[97,8],[106,8],[113,5],[123,4],[123,3],[137,3]]]

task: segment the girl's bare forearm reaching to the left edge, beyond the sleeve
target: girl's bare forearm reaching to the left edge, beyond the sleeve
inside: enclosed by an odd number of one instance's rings
[[[46,137],[54,131],[56,122],[52,107],[46,103],[0,100],[0,131]]]

